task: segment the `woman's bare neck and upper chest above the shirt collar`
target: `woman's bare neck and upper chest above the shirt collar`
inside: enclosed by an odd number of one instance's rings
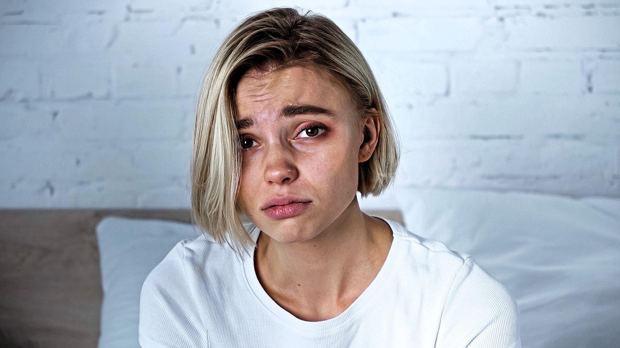
[[[327,320],[346,310],[387,258],[392,232],[360,211],[357,200],[316,237],[280,243],[260,233],[256,274],[265,292],[294,316]]]

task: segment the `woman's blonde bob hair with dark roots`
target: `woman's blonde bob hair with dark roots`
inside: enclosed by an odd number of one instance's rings
[[[396,134],[373,72],[355,43],[332,20],[311,11],[300,14],[280,7],[247,17],[224,39],[203,80],[191,165],[193,221],[237,253],[247,252],[254,241],[242,225],[236,203],[241,177],[236,85],[250,69],[270,72],[291,66],[328,72],[350,92],[360,120],[370,108],[378,111],[381,128],[376,149],[370,159],[359,164],[361,196],[378,195],[396,173]]]

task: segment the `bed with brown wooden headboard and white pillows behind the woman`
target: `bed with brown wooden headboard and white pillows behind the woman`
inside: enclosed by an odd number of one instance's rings
[[[524,348],[618,347],[620,199],[415,186],[396,199],[366,212],[474,257],[515,298]],[[188,210],[0,211],[0,347],[137,348],[141,282],[198,233],[189,222]]]

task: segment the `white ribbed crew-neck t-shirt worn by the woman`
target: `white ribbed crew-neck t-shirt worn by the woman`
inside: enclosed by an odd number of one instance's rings
[[[516,303],[467,254],[386,220],[383,267],[335,318],[304,321],[262,288],[254,261],[210,237],[180,241],[144,281],[139,343],[185,347],[521,348]],[[260,230],[246,230],[257,240]]]

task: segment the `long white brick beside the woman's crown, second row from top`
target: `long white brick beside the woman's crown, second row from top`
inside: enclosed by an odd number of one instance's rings
[[[368,19],[360,22],[359,28],[359,46],[364,52],[471,51],[482,36],[476,18]]]

